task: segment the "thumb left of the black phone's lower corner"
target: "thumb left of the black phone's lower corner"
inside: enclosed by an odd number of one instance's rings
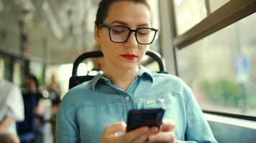
[[[109,124],[104,128],[104,134],[111,135],[116,132],[126,132],[126,127],[127,124],[125,124],[124,122],[116,122],[113,124]]]

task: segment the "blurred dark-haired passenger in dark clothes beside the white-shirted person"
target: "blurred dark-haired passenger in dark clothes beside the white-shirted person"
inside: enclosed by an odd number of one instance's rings
[[[37,88],[37,78],[28,75],[22,92],[25,119],[18,124],[18,134],[22,143],[35,142],[36,137],[42,136],[44,107],[42,94],[37,91]]]

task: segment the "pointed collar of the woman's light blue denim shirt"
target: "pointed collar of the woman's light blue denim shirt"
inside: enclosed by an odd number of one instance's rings
[[[141,65],[139,66],[139,72],[137,74],[137,77],[142,79],[149,79],[150,82],[154,82],[152,73]],[[110,82],[109,79],[106,79],[106,77],[103,76],[103,71],[99,71],[99,73],[95,77],[93,77],[93,79],[91,79],[91,89],[93,89],[93,91],[99,81]]]

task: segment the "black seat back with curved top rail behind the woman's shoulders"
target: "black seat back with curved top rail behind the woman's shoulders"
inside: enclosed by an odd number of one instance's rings
[[[164,70],[163,67],[163,61],[161,59],[160,54],[158,54],[156,51],[146,51],[146,55],[150,56],[150,58],[154,61],[157,61],[157,64],[159,66],[159,71],[158,73],[165,73],[167,72]],[[78,56],[78,58],[75,60],[73,64],[73,70],[72,70],[72,77],[69,79],[69,89],[76,87],[76,85],[81,84],[83,82],[89,81],[93,79],[93,75],[85,75],[85,76],[78,76],[77,71],[78,71],[78,66],[81,64],[82,61],[89,59],[89,58],[95,58],[95,57],[102,57],[104,56],[101,51],[89,51],[86,53],[81,54]]]

